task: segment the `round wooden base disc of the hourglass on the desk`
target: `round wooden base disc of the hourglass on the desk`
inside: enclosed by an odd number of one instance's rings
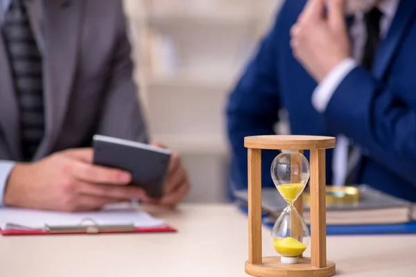
[[[316,268],[310,258],[300,258],[298,264],[285,265],[280,257],[263,257],[261,265],[245,262],[245,272],[258,277],[329,277],[335,275],[335,263],[327,260],[327,266]]]

